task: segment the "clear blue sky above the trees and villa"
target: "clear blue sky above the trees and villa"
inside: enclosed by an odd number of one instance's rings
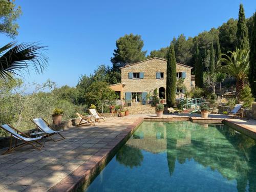
[[[238,18],[241,2],[246,17],[251,16],[255,0],[16,0],[23,11],[16,40],[49,46],[48,70],[40,75],[31,71],[26,81],[41,83],[50,78],[58,86],[76,86],[82,74],[93,73],[98,65],[112,66],[115,42],[124,34],[141,35],[149,54],[181,33],[195,36],[230,17]],[[3,34],[1,39],[2,45],[11,40]]]

